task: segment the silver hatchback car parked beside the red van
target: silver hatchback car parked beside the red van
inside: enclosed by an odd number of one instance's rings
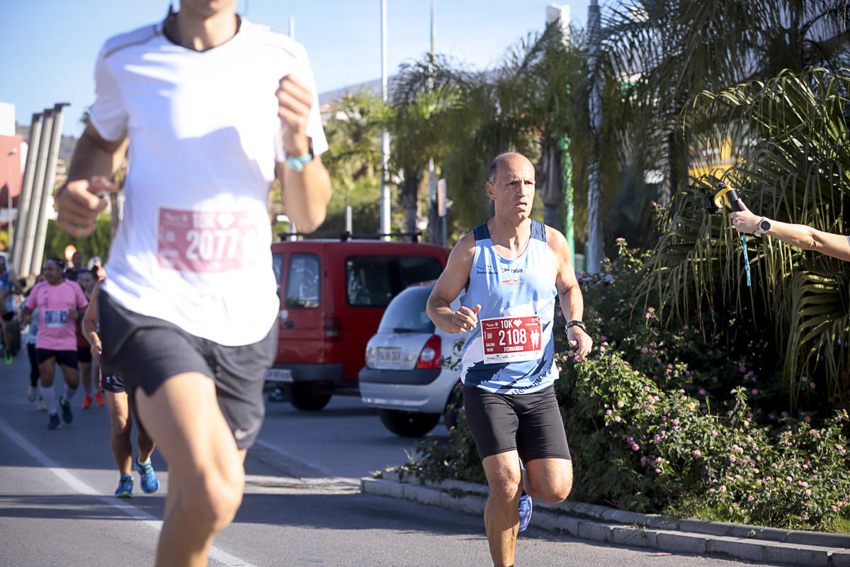
[[[377,408],[384,426],[402,437],[421,437],[445,416],[457,422],[462,405],[460,349],[467,335],[436,328],[425,313],[433,282],[411,286],[389,303],[366,345],[360,397]],[[460,298],[451,309],[460,307]]]

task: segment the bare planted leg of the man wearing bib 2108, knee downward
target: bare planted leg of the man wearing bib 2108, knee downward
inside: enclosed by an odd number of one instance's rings
[[[490,455],[482,461],[490,496],[484,507],[484,525],[490,556],[496,567],[513,565],[519,530],[519,496],[522,475],[517,451]]]

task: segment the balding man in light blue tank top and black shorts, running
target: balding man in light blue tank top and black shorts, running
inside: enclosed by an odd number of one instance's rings
[[[567,241],[530,218],[534,192],[534,166],[526,157],[496,156],[487,181],[496,215],[457,242],[428,298],[434,325],[445,332],[474,329],[462,354],[463,401],[490,485],[484,524],[496,567],[513,565],[530,497],[557,503],[572,488],[570,448],[553,388],[556,298],[576,359],[592,346]],[[462,307],[452,311],[451,301],[464,288]]]

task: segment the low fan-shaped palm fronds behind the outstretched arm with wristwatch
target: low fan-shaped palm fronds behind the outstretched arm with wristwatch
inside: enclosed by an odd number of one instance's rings
[[[846,75],[821,68],[784,71],[768,82],[700,94],[686,118],[692,128],[723,125],[718,137],[747,148],[722,177],[754,210],[847,233],[848,102]],[[761,343],[768,370],[770,360],[779,361],[792,405],[808,396],[812,378],[825,388],[826,400],[847,401],[850,269],[835,258],[751,238],[755,281],[746,287],[740,238],[728,217],[706,217],[700,210],[700,198],[715,181],[696,180],[673,196],[665,219],[669,230],[647,264],[639,294],[657,293],[671,323],[709,310],[734,313],[723,328],[728,341]]]

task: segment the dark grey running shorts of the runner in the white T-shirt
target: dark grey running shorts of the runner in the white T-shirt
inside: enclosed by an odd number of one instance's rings
[[[124,309],[105,292],[98,308],[101,358],[124,378],[131,397],[135,388],[152,395],[169,377],[200,372],[215,383],[218,407],[236,446],[253,444],[265,416],[263,383],[277,354],[277,320],[258,343],[228,347],[190,335],[167,320]]]

